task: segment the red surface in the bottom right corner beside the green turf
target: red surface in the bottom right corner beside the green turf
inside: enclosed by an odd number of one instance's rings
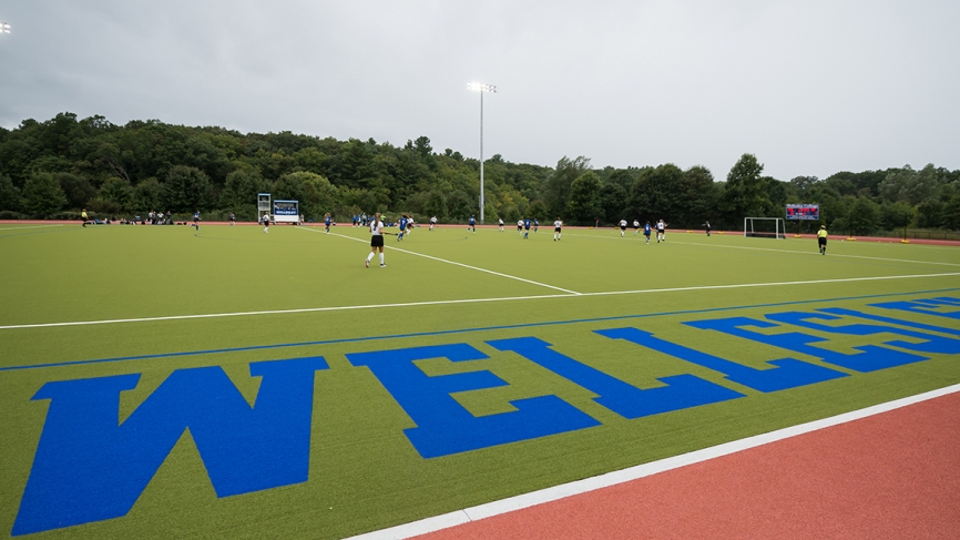
[[[417,538],[960,539],[960,393]]]

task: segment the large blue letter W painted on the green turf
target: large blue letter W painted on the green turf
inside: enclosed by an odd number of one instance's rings
[[[12,533],[125,516],[190,428],[217,497],[305,482],[321,357],[251,364],[251,407],[221,367],[178,369],[119,424],[140,374],[48,383],[50,399]]]

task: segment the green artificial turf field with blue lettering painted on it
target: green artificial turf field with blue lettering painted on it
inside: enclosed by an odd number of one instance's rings
[[[353,227],[3,225],[0,530],[341,538],[960,383],[960,248],[642,238],[421,227],[365,268]],[[732,317],[754,325],[708,328]],[[622,328],[645,345],[595,332]],[[361,355],[396,349],[422,358]],[[294,358],[325,365],[264,397],[279,376],[257,363]],[[768,377],[784,358],[820,379]],[[280,404],[259,446],[229,438],[249,425],[226,420],[229,391]],[[110,421],[85,430],[94,410]],[[305,479],[257,476],[295,447]]]

